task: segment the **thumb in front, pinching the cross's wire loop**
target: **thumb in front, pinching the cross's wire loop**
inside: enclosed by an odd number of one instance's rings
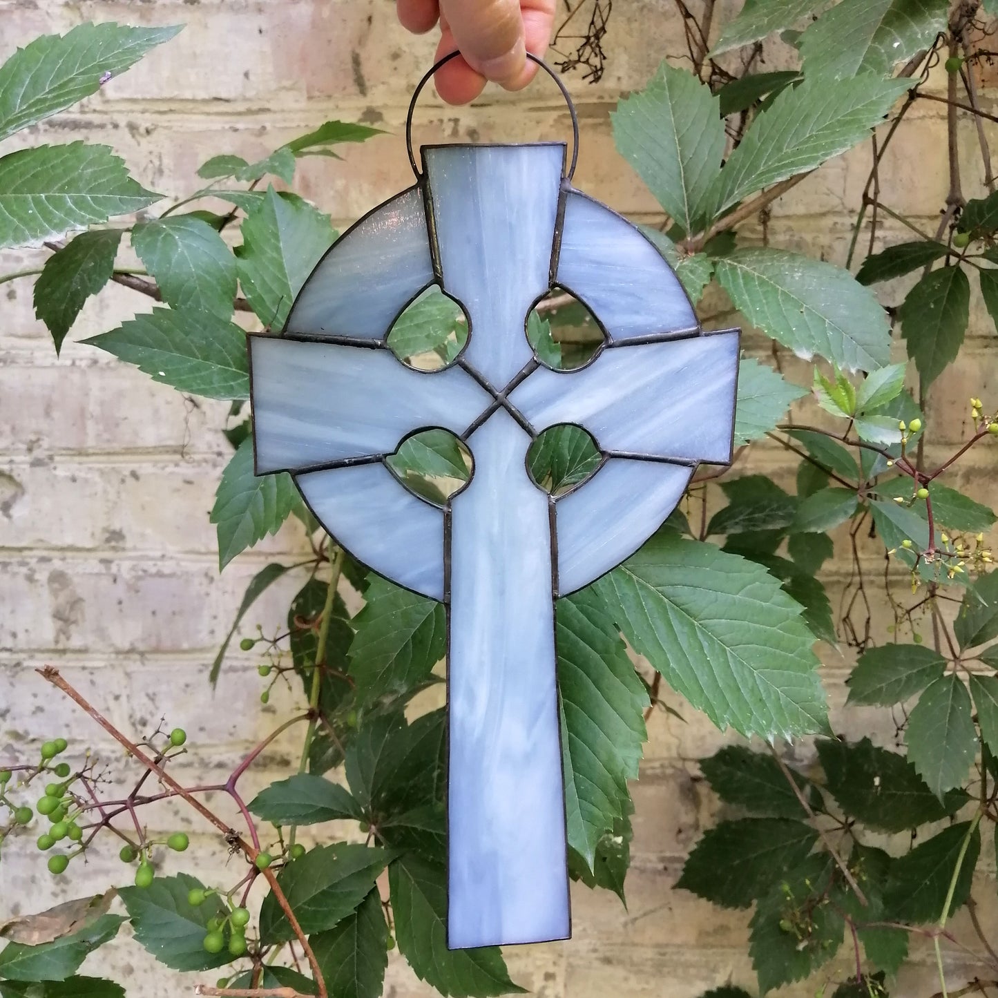
[[[440,11],[473,70],[499,84],[522,75],[527,56],[519,0],[442,0]]]

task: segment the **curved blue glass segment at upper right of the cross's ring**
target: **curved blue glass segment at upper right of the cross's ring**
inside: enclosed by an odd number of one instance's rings
[[[612,341],[698,328],[659,250],[626,219],[578,191],[565,200],[558,283],[585,302]]]

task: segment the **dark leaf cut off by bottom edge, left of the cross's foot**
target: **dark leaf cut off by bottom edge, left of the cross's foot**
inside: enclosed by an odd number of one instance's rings
[[[388,924],[376,888],[335,928],[308,940],[326,989],[335,998],[380,998],[387,942]]]

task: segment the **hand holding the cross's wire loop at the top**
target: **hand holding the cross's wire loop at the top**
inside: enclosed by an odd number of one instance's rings
[[[436,58],[461,55],[436,74],[448,104],[467,104],[486,80],[520,90],[537,72],[526,53],[543,56],[551,41],[556,0],[396,0],[398,19],[415,34],[440,22]]]

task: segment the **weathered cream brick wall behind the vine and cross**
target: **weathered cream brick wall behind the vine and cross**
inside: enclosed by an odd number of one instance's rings
[[[731,14],[727,8],[735,6],[719,4],[722,23]],[[147,187],[176,197],[196,189],[194,172],[211,155],[254,159],[326,118],[366,122],[388,134],[348,148],[341,163],[305,161],[298,185],[338,224],[348,224],[411,182],[403,147],[405,107],[429,65],[433,42],[402,32],[393,8],[389,0],[0,0],[0,57],[36,34],[64,31],[85,19],[187,24],[172,44],[81,108],[19,141],[86,137],[110,143]],[[578,186],[638,220],[655,221],[656,205],[615,153],[609,112],[622,92],[643,85],[664,55],[680,55],[682,39],[682,23],[669,0],[618,4],[603,81],[595,87],[568,81],[582,125]],[[779,68],[785,58],[773,46],[766,68]],[[989,110],[993,100],[994,92],[986,91]],[[944,122],[937,109],[941,106],[920,105],[908,115],[880,171],[891,204],[925,228],[934,226],[946,195]],[[985,128],[998,138],[995,126]],[[519,95],[489,92],[480,105],[463,109],[442,107],[428,93],[416,115],[417,143],[562,136],[569,136],[568,115],[548,82]],[[981,168],[969,125],[961,156],[964,191],[973,195]],[[843,262],[850,213],[868,167],[864,148],[808,178],[772,206],[765,235],[773,245]],[[755,232],[762,235],[758,224]],[[880,238],[895,242],[902,233],[888,227]],[[33,252],[0,252],[0,273],[37,265],[39,259]],[[899,298],[897,288],[888,286],[884,294],[884,300]],[[212,698],[207,663],[250,577],[267,556],[299,550],[301,537],[285,528],[220,578],[208,511],[229,454],[219,432],[225,405],[185,399],[109,355],[72,342],[57,359],[34,318],[29,282],[5,284],[0,296],[0,749],[8,742],[35,745],[73,734],[74,749],[91,745],[115,768],[123,767],[120,751],[33,674],[52,663],[126,731],[148,731],[161,716],[186,727],[192,751],[182,766],[185,778],[202,781],[213,768],[228,770],[286,716],[294,698],[278,687],[261,709],[255,662],[238,651]],[[113,287],[87,305],[74,336],[113,328],[148,307],[147,299]],[[711,292],[703,316],[710,324],[725,324],[731,321],[729,307]],[[932,449],[949,453],[965,439],[971,394],[992,403],[998,395],[995,344],[994,327],[975,299],[967,343],[930,398],[930,459]],[[767,340],[749,337],[748,345],[749,352],[769,356]],[[792,357],[782,362],[788,376],[804,376],[804,365]],[[977,453],[961,466],[955,484],[993,502],[995,449],[989,457]],[[752,454],[747,467],[792,490],[793,466],[782,452],[759,445]],[[867,568],[875,570],[882,554],[872,544],[863,554]],[[825,573],[836,607],[848,576],[844,557]],[[274,587],[252,617],[275,622],[293,585]],[[882,628],[889,620],[882,596],[875,609]],[[848,656],[823,648],[822,658],[836,727],[890,744],[893,729],[885,712],[842,716]],[[642,778],[634,786],[628,908],[609,893],[575,889],[571,942],[508,951],[514,978],[534,992],[550,998],[693,998],[730,979],[754,990],[745,915],[672,889],[686,851],[718,811],[698,778],[696,759],[726,738],[675,695],[667,698],[685,720],[657,713],[650,725]],[[264,785],[286,774],[295,750],[293,742],[277,743],[250,782]],[[811,755],[807,746],[791,752],[801,762]],[[203,828],[184,808],[164,807],[150,820],[165,829],[188,828],[195,836],[191,852],[174,867],[207,878],[225,869],[215,837],[201,834]],[[6,848],[0,916],[118,882],[126,879],[123,872],[113,855],[95,856],[85,873],[57,883],[32,849]],[[982,920],[998,927],[994,885],[975,893]],[[955,919],[958,931],[965,919],[965,913]],[[916,944],[913,952],[897,995],[936,990],[930,949]],[[958,950],[946,959],[954,982],[972,973]],[[843,949],[833,967],[847,963]],[[185,994],[191,984],[190,978],[164,971],[136,945],[101,950],[85,969],[116,975],[132,998]],[[399,996],[429,993],[397,959],[390,964],[387,988]],[[812,988],[790,992],[810,994]]]

